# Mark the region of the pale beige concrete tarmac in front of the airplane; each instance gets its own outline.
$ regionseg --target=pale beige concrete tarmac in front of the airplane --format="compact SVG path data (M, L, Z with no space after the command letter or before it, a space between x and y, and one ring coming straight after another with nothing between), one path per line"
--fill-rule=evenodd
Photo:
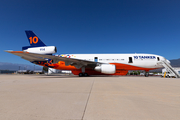
M0 120L179 120L180 79L0 75Z

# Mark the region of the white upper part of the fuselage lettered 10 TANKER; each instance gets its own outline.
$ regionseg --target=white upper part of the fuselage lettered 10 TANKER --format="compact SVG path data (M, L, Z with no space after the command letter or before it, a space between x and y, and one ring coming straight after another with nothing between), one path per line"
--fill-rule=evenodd
M141 68L162 68L164 57L154 54L63 54L60 57L75 58L100 63L121 63ZM169 62L169 61L168 61Z

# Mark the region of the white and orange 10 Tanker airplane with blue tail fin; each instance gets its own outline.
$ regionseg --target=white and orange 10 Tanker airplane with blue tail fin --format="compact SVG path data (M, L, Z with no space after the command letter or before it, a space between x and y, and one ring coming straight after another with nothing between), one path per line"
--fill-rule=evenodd
M127 75L129 70L149 70L163 68L161 61L169 60L155 54L59 54L55 46L46 46L33 31L25 31L31 46L22 51L6 51L20 56L31 63L59 70L71 70L74 75Z

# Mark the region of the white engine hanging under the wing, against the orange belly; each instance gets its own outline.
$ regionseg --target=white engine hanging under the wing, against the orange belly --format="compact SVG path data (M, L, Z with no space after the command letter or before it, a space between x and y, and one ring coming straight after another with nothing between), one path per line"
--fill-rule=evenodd
M104 74L114 74L116 72L116 66L111 64L102 64L101 66L96 66L94 70Z

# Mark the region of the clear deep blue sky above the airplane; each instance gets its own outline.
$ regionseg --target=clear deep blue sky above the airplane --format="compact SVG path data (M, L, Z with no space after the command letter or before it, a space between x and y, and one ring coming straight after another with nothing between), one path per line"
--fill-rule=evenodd
M29 64L4 50L28 46L33 30L59 54L152 53L180 58L180 0L0 1L0 62Z

